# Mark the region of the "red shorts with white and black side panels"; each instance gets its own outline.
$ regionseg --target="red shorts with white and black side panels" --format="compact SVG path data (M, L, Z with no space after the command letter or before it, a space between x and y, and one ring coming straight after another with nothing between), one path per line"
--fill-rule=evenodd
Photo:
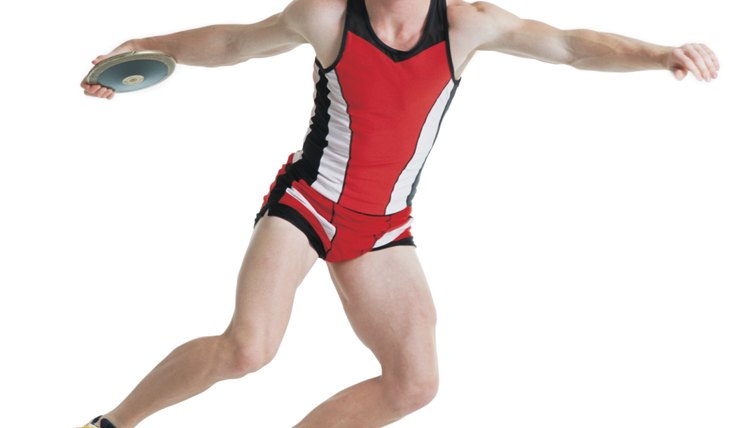
M320 258L328 262L397 245L414 245L411 207L391 215L352 211L296 178L294 170L292 154L263 198L256 223L266 214L287 220L307 236Z

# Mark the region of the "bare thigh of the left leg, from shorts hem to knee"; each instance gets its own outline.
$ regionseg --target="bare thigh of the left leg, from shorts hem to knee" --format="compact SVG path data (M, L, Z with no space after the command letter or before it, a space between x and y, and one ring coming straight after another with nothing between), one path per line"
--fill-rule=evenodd
M280 341L297 287L316 259L299 229L278 217L263 217L255 226L237 279L233 333Z

